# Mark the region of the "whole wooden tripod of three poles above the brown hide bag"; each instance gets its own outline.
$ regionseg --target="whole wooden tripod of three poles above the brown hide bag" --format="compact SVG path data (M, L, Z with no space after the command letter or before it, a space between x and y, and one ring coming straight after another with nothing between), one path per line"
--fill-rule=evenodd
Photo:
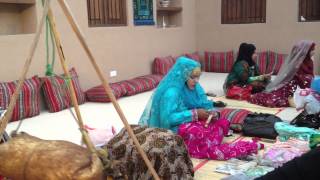
M78 40L80 41L81 46L83 47L83 49L85 50L87 56L89 57L89 60L90 60L90 62L92 64L92 66L94 67L94 69L95 69L100 81L102 82L102 85L103 85L107 95L109 96L113 106L115 107L118 115L120 116L120 119L122 120L122 122L124 124L124 127L128 131L129 136L132 138L133 143L135 144L139 154L142 156L143 160L145 161L145 163L146 163L149 171L151 172L152 176L156 180L159 180L160 178L159 178L158 174L154 170L154 168L153 168L151 162L149 161L147 155L145 154L145 152L141 148L141 145L139 144L139 141L137 140L136 136L134 135L133 130L131 129L126 117L124 116L123 111L121 110L121 108L120 108L115 96L113 95L112 90L111 90L111 88L109 86L109 83L108 83L107 79L104 77L104 75L101 72L99 66L97 65L97 63L95 61L95 58L93 57L93 54L91 53L91 51L89 49L89 46L87 45L87 43L86 43L86 41L84 39L84 36L83 36L82 32L80 31L79 26L77 25L77 23L75 22L74 17L71 14L71 11L70 11L70 8L69 8L68 4L66 3L65 0L58 0L58 3L60 4L60 6L61 6L61 8L63 10L63 13L65 14L69 24L71 25L72 30L74 31L74 33L76 34ZM4 117L1 120L0 135L3 134L3 132L6 129L7 124L9 123L9 120L11 119L11 116L12 116L12 113L13 113L13 108L14 108L14 106L16 104L18 95L19 95L19 93L21 91L22 85L23 85L24 80L26 78L26 74L27 74L27 72L29 70L29 67L31 65L34 52L35 52L37 44L39 42L41 30L42 30L42 27L43 27L44 22L46 20L46 16L48 16L49 23L50 23L51 29L53 31L55 44L56 44L56 48L58 50L58 54L59 54L59 58L60 58L60 63L61 63L62 69L63 69L65 75L67 76L67 79L70 79L70 74L68 72L68 66L66 64L66 58L65 58L64 53L63 53L63 48L62 48L62 45L61 45L60 36L59 36L58 31L57 31L57 28L56 28L56 25L55 25L54 16L53 16L52 10L50 9L50 5L49 4L50 4L50 0L46 0L45 4L44 4L44 9L43 9L43 14L42 14L42 17L41 17L41 21L40 21L39 26L37 28L37 32L36 32L35 38L33 40L33 43L31 45L31 49L30 49L29 55L27 57L27 60L25 62L21 77L19 79L19 82L18 82L18 85L16 87L15 92L13 93L12 97L10 98L10 104L8 106L7 112L5 113ZM88 136L87 131L85 131L85 129L84 129L84 124L83 124L83 120L82 120L82 116L81 116L81 113L80 113L80 109L79 109L79 105L78 105L78 102L77 102L77 98L76 98L76 94L75 94L75 90L74 90L73 84L72 83L68 83L68 85L69 85L70 94L71 94L71 101L72 101L72 104L73 104L73 106L75 108L75 112L76 112L76 116L77 116L77 123L79 125L80 132L82 134L82 138L84 140L84 143L86 144L86 146L88 147L88 149L89 149L89 151L91 153L94 153L94 154L98 155L96 150L95 150L95 148L94 148L93 143L91 142L91 140L90 140L90 138Z

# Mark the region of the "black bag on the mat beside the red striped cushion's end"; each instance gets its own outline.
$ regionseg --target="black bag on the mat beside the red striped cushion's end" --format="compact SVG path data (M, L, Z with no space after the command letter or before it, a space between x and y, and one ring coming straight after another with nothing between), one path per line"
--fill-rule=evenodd
M274 124L281 121L273 114L248 114L244 120L242 132L245 136L276 139L278 133L274 129Z

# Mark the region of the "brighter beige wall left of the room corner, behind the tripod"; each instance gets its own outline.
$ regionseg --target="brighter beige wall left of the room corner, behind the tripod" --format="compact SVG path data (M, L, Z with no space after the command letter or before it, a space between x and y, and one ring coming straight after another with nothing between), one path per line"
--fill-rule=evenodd
M67 24L60 7L56 1L52 2L65 54L70 62L69 66L76 67L84 89L99 84L86 54ZM151 63L155 56L179 55L196 50L195 0L186 0L182 3L183 26L168 29L159 29L156 26L134 26L132 0L127 0L128 26L89 28L86 1L68 0L67 2L103 72L109 75L110 70L117 70L118 76L111 78L110 81L151 73ZM37 5L37 15L39 20L40 4ZM0 23L0 27L1 25L2 23ZM34 34L0 36L2 62L0 81L18 79L33 37ZM28 76L44 74L44 47L42 34ZM56 61L58 62L58 59ZM61 72L60 66L56 66L55 69L57 73Z

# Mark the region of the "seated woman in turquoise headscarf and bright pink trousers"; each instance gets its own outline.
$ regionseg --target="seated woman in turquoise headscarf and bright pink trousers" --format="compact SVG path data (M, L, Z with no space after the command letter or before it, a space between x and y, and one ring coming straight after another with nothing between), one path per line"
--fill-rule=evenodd
M196 158L225 160L257 152L260 144L256 142L221 144L228 133L228 120L206 125L210 114L216 113L198 83L200 75L198 62L179 58L152 95L139 124L178 132L190 155Z

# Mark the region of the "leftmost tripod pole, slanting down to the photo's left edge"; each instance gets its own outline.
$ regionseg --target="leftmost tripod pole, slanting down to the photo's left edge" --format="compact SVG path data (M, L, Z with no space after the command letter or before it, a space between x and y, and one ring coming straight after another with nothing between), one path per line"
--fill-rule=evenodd
M44 25L44 22L46 20L46 16L48 14L49 6L50 6L50 0L46 0L46 2L44 4L43 11L42 11L42 17L41 17L40 23L38 24L35 37L34 37L34 39L32 41L32 44L31 44L31 47L30 47L30 51L29 51L29 55L28 55L28 57L27 57L27 59L25 61L22 73L20 75L20 79L19 79L18 85L16 86L16 89L15 89L13 95L10 98L10 103L9 103L8 108L7 108L7 112L4 114L3 118L1 119L1 124L0 124L0 135L1 136L3 135L3 132L5 131L8 123L11 120L12 113L13 113L13 108L16 105L19 93L20 93L21 88L23 86L24 80L26 79L26 75L27 75L27 73L29 71L34 52L35 52L35 50L37 48L37 45L38 45L38 42L39 42L40 34L41 34L41 31L42 31L42 27Z

